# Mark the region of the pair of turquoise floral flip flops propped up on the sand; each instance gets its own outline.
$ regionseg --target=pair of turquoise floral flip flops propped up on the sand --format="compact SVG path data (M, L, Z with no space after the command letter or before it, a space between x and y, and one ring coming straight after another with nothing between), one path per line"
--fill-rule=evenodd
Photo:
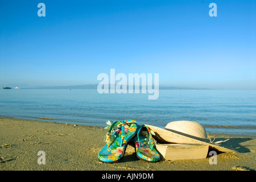
M135 146L137 157L147 162L158 162L160 155L154 148L153 138L150 129L139 126L136 121L126 119L123 121L110 122L106 127L106 144L99 151L98 159L103 163L115 163L122 160L125 155L127 143L132 140Z

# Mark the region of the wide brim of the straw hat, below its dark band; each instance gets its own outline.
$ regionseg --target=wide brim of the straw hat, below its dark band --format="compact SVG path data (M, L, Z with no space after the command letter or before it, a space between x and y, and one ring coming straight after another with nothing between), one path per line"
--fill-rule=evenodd
M219 152L236 152L229 148L221 147L213 143L203 142L198 139L194 139L191 137L186 137L185 135L174 133L173 131L161 129L156 126L146 125L153 130L155 135L153 137L161 143L190 143L190 144L205 144L211 148L211 150L219 151Z

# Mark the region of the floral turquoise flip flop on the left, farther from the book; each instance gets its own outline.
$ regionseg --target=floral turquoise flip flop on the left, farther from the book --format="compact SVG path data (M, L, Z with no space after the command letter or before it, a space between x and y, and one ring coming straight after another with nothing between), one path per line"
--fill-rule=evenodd
M115 163L123 158L127 143L134 137L138 127L137 122L130 119L115 121L109 124L111 126L106 135L107 144L98 154L98 159L103 163Z

